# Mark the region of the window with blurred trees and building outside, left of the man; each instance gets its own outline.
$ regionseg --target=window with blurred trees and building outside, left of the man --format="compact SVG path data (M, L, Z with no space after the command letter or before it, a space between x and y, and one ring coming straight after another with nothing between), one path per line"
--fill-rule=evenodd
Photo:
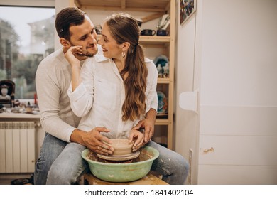
M0 6L0 80L15 83L15 99L33 99L36 68L53 53L55 9Z

